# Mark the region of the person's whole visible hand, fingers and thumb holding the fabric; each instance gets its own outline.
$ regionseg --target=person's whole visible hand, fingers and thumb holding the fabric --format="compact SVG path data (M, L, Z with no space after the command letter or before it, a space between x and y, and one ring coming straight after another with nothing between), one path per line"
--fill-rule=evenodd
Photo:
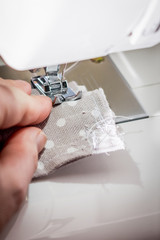
M46 136L29 125L42 122L51 111L51 99L30 96L30 84L0 78L0 129L23 126L0 152L0 230L21 207L37 168Z

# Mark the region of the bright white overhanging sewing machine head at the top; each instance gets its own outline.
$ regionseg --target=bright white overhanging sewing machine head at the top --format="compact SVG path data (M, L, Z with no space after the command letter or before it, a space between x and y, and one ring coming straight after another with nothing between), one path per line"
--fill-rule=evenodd
M33 69L153 46L158 0L1 0L0 54Z

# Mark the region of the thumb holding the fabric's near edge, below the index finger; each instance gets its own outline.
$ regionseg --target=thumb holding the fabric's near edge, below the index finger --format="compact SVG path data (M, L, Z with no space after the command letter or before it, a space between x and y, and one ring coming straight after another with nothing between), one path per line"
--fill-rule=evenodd
M35 127L16 132L0 153L0 225L4 225L25 199L46 136Z

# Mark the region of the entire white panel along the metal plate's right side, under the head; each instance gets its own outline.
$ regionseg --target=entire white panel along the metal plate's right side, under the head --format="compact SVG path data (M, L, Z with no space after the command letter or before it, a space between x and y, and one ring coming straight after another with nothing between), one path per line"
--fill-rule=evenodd
M110 55L149 116L160 115L160 44Z

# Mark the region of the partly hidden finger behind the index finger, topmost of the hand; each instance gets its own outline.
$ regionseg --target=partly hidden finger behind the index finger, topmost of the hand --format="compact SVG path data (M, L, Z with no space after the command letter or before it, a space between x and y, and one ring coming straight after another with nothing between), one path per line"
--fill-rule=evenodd
M26 81L10 80L10 79L4 80L4 79L0 78L0 84L17 87L17 88L21 89L22 91L24 91L25 93L27 93L28 95L31 94L31 85Z

